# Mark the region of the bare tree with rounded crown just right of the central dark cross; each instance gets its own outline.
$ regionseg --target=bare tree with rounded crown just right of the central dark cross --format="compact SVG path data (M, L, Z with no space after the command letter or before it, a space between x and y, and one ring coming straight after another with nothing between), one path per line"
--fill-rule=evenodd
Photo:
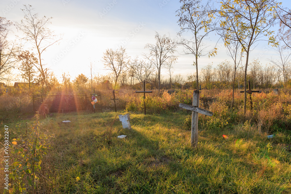
M158 89L160 92L160 79L161 79L161 68L162 65L167 65L171 60L174 60L174 52L176 51L176 46L173 44L171 38L163 35L162 37L156 32L155 35L156 44L146 44L145 48L150 50L150 54L145 55L155 66L158 72Z

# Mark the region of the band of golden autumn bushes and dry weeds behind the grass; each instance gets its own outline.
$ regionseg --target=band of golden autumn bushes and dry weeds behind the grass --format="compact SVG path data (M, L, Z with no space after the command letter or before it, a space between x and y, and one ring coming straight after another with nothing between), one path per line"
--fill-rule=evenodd
M88 91L87 91L88 92ZM114 111L114 102L112 90L102 90L102 106L104 111ZM128 112L143 113L144 102L146 103L146 111L152 113L167 113L168 111L181 111L183 114L189 114L186 110L179 108L180 103L192 104L193 90L176 90L161 91L157 90L152 93L147 93L145 100L142 93L135 93L135 90L130 88L118 89L115 91L116 106L118 110L126 110ZM90 94L87 93L87 96ZM87 98L88 101L91 98ZM244 116L244 94L239 90L235 90L234 102L232 104L232 90L201 90L200 91L200 108L212 111L213 117L200 115L200 127L207 127L221 130L225 127L233 128L237 124L243 124L246 120L251 121L258 129L267 133L274 131L284 131L291 129L291 95L274 94L274 92L262 92L252 94L253 110L250 110L249 94L247 94L247 113ZM91 104L87 103L88 111L92 110ZM32 110L31 95L0 96L0 110L24 111L31 113ZM190 118L185 120L186 123L191 122Z

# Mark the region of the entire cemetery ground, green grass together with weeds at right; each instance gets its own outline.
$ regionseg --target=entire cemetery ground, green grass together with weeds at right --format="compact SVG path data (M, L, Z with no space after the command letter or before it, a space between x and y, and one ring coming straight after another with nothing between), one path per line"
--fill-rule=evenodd
M35 192L291 193L290 95L255 94L254 111L248 110L246 118L241 97L231 107L228 92L219 96L211 104L203 104L200 98L200 107L214 115L199 115L195 149L190 145L191 111L163 109L150 101L147 115L143 101L140 107L129 101L126 110L117 113L53 113L40 118L39 145L47 149L35 170ZM190 104L191 98L187 100L178 101ZM131 130L123 129L118 119L126 113ZM15 145L10 143L11 152L16 150L11 158L19 162L20 152L25 152L23 140L34 135L36 126L35 118L21 118L15 114L4 120L10 126L11 141L16 139ZM274 138L266 137L270 134ZM26 166L14 164L18 176ZM29 174L23 176L26 191L32 193Z

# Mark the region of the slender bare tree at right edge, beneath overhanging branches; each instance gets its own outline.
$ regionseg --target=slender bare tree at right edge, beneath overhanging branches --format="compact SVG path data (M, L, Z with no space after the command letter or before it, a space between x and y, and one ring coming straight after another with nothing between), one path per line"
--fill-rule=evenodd
M286 52L286 49L282 49L282 47L279 45L276 48L276 52L279 56L279 59L269 59L269 61L275 65L276 67L279 68L281 71L281 74L283 74L283 79L284 79L284 88L285 88L285 94L286 94L286 84L287 84L287 79L288 79L288 69L290 66L290 55L291 53Z

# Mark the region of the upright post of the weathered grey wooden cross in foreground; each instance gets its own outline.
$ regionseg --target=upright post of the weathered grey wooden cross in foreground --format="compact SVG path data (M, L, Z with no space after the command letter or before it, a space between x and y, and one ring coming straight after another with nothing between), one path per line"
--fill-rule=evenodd
M199 90L193 91L192 105L199 107ZM198 114L196 111L192 111L191 119L191 146L196 147L198 143Z

